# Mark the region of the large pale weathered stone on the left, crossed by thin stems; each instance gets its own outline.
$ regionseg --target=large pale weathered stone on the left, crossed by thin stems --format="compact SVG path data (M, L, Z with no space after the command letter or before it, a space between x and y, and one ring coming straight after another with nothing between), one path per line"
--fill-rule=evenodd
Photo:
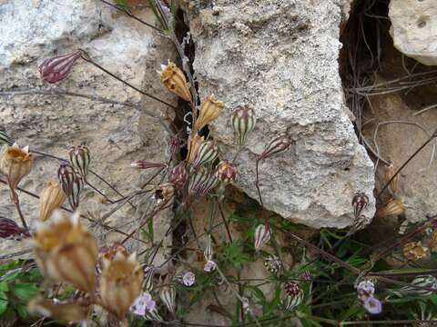
M155 17L148 10L136 14L147 22L154 22ZM94 0L3 1L0 20L2 90L56 89L56 85L45 84L39 79L38 65L46 57L66 54L80 47L129 83L176 104L175 97L158 83L156 73L160 63L174 58L173 45L107 5ZM72 74L58 87L141 105L140 109L135 109L66 96L0 97L0 126L5 127L19 144L30 144L31 150L64 158L71 145L86 143L91 152L91 169L123 194L134 191L145 180L140 178L145 173L130 167L132 161L165 160L164 130L142 108L159 114L167 111L166 106L138 94L84 61L79 61ZM39 193L49 178L56 178L58 164L56 160L36 155L32 172L20 186ZM89 181L111 199L120 197L95 176L91 175ZM23 193L20 198L26 219L36 218L36 200ZM114 208L101 200L99 194L87 187L81 197L82 211L103 215ZM133 203L139 205L138 211L127 205L106 223L123 225L130 231L144 213L145 206L141 203L147 203L146 200L134 199ZM7 189L1 184L0 214L17 219ZM168 220L160 220L162 228L166 223ZM111 239L120 239L120 235L112 236Z

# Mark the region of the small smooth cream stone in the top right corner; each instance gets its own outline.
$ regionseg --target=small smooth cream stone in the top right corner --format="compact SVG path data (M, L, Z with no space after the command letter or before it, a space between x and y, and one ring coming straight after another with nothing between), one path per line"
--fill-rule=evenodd
M391 0L389 17L393 44L409 57L437 64L437 5L433 0Z

